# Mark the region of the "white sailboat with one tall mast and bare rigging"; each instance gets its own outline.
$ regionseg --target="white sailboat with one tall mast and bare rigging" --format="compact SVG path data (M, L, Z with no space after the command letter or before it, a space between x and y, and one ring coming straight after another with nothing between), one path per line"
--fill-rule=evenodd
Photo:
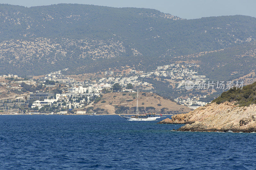
M161 118L160 116L156 115L155 113L149 113L149 114L139 114L138 113L138 96L139 96L139 89L137 91L137 110L136 115L127 117L127 116L121 116L125 118L127 121L155 121L157 118Z

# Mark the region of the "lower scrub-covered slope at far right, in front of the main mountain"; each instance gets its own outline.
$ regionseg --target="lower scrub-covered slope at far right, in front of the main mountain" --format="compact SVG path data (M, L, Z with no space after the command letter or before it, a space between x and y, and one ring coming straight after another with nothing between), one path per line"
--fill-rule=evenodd
M201 66L200 73L206 74L212 80L234 80L255 70L256 43L248 41L220 50L177 56L163 62L193 61Z

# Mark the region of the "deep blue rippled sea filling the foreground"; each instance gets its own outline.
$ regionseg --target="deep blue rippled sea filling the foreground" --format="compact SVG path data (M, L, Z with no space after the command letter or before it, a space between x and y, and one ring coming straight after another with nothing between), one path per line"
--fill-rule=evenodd
M157 122L0 115L0 169L256 169L256 133L182 132Z

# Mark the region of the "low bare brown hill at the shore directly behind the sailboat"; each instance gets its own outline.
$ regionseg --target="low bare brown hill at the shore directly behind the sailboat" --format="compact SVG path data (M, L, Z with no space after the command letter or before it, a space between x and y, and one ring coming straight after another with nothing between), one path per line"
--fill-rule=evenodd
M125 95L124 95L125 94ZM143 94L143 95L142 95ZM134 114L136 113L137 93L106 93L98 103L87 107L88 112L99 114ZM139 93L139 113L178 114L192 109L164 99L155 93Z

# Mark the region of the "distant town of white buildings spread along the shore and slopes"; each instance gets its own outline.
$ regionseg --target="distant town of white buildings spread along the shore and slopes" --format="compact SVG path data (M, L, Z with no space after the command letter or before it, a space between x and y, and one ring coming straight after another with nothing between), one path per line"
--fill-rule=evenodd
M208 80L204 75L198 75L196 64L170 64L158 66L151 72L129 70L127 76L116 75L114 71L105 71L105 77L96 81L77 81L62 74L67 69L51 72L38 78L20 78L17 75L0 75L1 90L4 88L12 97L0 99L0 112L2 113L49 113L49 114L74 114L73 109L86 108L92 102L96 103L104 93L112 91L135 92L134 87L150 89L150 83L141 78L168 77L179 80L178 89L184 89L187 79L195 84ZM191 69L194 68L194 69ZM132 75L132 76L131 76ZM3 88L4 87L4 88ZM206 102L200 99L206 96L174 99L180 105L192 109L204 106ZM86 114L88 109L76 111L76 114Z

